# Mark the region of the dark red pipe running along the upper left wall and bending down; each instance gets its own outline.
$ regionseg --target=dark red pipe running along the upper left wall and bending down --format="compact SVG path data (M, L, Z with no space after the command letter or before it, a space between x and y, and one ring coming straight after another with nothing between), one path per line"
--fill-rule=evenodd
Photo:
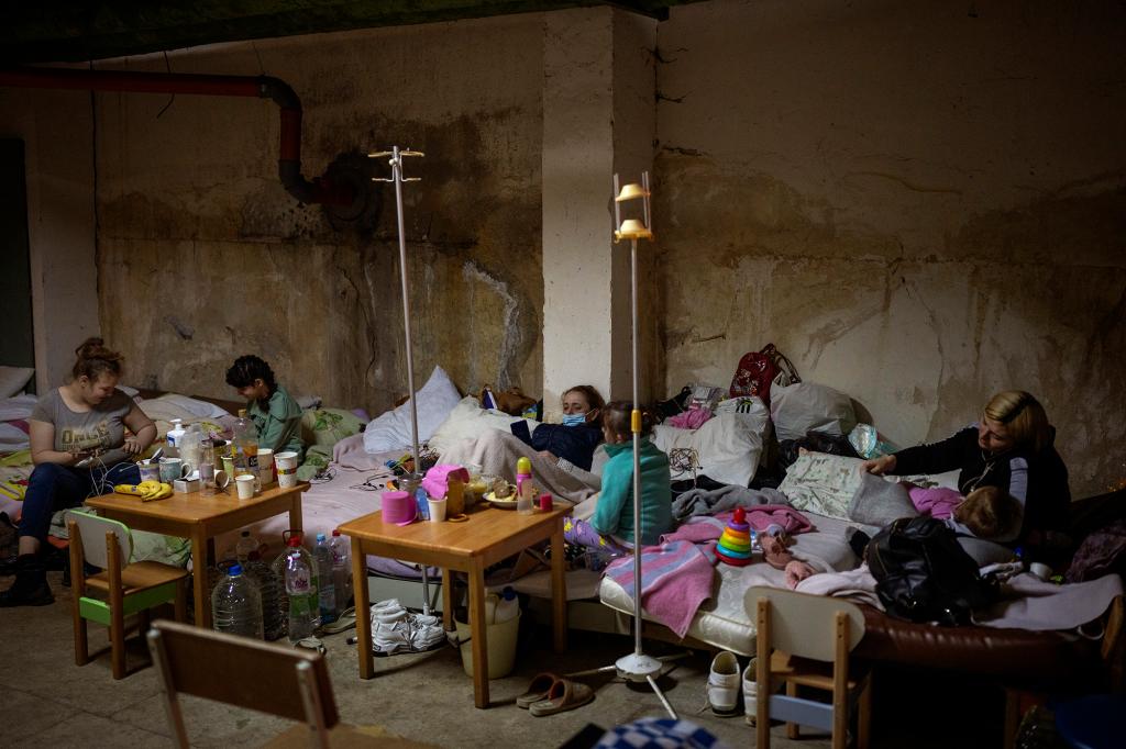
M301 99L285 81L269 75L200 75L17 67L0 70L0 85L135 93L187 93L270 99L282 110L278 175L286 190L304 204L347 206L355 199L350 186L328 179L306 180L301 174Z

